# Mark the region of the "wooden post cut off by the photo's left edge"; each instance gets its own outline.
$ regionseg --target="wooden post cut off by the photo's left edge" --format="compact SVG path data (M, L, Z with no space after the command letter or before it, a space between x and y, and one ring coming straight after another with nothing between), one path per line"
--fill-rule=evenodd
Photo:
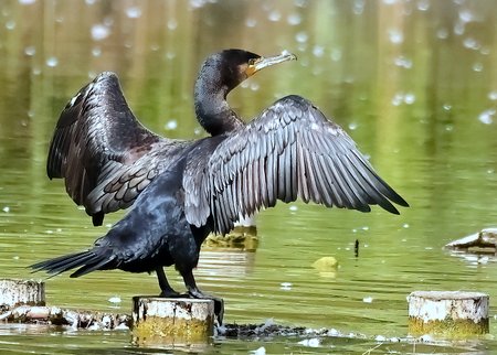
M45 283L35 280L0 280L0 305L45 305Z

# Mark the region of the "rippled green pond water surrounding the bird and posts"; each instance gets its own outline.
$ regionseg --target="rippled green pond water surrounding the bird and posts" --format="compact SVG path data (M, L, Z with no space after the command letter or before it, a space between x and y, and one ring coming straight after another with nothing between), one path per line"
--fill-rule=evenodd
M84 249L108 228L92 227L63 182L45 175L59 114L95 74L118 73L129 105L154 131L194 138L203 132L191 92L208 54L288 50L297 62L257 74L230 95L231 105L250 118L284 95L307 97L347 129L411 208L394 216L279 204L258 217L256 251L203 250L198 282L225 299L228 322L274 319L367 336L325 338L317 348L298 338L215 340L204 351L361 354L377 335L405 336L405 297L415 290L487 292L494 320L495 259L443 249L497 225L493 0L31 2L0 3L0 277L31 278L28 265ZM322 256L337 258L335 273L311 267ZM169 275L181 289L176 271ZM50 304L126 313L133 295L158 291L154 275L123 271L63 275L46 288ZM123 300L117 310L114 295ZM463 347L387 344L374 352L491 354L496 334L490 321L485 340ZM134 347L127 332L0 324L0 353L88 352L155 351Z

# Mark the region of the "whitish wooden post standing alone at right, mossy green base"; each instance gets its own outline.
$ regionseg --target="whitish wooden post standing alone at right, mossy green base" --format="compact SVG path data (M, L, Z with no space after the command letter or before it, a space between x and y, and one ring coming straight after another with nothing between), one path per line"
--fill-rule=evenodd
M461 337L488 333L488 294L415 291L408 297L409 333Z

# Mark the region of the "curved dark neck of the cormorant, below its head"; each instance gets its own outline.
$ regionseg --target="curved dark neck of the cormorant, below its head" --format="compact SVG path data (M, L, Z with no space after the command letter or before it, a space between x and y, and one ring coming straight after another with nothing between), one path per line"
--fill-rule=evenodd
M244 126L226 101L229 92L226 86L215 85L215 83L205 85L203 79L195 83L197 119L211 136L231 132Z

